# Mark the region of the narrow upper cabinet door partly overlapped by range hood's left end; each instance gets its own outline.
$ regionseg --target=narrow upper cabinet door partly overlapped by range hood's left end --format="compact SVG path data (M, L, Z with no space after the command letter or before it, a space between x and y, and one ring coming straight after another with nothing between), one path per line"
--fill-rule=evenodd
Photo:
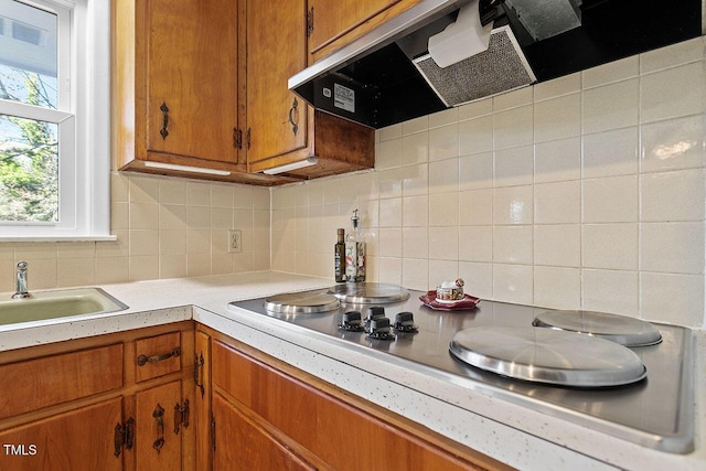
M287 88L306 65L306 0L247 0L248 163L307 147L308 107Z

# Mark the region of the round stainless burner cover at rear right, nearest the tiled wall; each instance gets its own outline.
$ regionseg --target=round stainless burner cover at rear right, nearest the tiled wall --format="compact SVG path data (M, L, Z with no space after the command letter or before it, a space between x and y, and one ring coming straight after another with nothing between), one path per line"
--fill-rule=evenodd
M596 311L547 311L532 325L585 333L625 346L645 346L662 342L662 334L649 322L627 315Z

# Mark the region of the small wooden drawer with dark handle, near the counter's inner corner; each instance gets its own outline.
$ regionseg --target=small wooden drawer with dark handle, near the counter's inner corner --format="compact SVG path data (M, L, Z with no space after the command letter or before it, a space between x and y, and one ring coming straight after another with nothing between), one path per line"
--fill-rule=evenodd
M181 370L181 333L169 332L135 341L137 383Z

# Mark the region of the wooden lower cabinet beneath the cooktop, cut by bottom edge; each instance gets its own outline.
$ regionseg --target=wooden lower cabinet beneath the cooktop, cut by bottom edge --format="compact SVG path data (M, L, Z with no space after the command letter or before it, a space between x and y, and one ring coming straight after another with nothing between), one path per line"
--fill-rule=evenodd
M248 345L200 329L212 335L215 470L226 469L218 463L250 470L509 469Z

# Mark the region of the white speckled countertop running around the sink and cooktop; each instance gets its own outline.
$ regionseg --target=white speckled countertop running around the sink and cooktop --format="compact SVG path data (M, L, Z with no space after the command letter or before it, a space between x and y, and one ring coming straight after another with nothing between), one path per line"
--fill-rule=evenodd
M234 300L330 285L328 279L261 271L101 286L129 308L117 313L0 325L0 351L193 318L518 469L706 469L703 331L695 335L696 451L672 454L510 404L482 387L470 389L392 355L351 354L339 343L312 342L276 319L227 310Z

